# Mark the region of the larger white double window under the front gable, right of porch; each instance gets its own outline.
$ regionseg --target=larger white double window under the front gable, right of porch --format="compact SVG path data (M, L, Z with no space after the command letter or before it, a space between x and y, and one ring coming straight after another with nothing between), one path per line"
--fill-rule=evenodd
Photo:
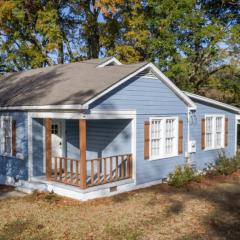
M151 159L177 155L178 120L171 118L150 119L150 156Z

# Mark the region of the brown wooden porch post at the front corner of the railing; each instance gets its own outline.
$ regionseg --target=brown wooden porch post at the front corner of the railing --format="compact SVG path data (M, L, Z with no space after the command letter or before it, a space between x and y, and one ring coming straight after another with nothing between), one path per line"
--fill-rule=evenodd
M79 143L80 143L80 188L87 187L87 160L86 160L86 120L79 120Z

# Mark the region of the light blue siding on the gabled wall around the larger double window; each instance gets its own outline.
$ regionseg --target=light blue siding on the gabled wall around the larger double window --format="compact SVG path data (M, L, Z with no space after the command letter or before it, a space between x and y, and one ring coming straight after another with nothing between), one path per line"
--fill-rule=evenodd
M185 163L184 154L159 160L144 160L144 121L154 116L178 116L183 120L184 151L187 148L187 106L160 80L139 77L93 103L93 109L136 110L136 183L146 183L168 176L177 165ZM124 148L124 145L119 145Z

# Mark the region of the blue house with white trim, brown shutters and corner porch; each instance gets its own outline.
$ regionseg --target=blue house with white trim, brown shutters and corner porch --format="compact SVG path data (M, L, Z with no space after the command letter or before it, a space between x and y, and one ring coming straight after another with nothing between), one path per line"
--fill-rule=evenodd
M240 109L186 93L152 63L86 60L0 80L0 183L76 199L234 156Z

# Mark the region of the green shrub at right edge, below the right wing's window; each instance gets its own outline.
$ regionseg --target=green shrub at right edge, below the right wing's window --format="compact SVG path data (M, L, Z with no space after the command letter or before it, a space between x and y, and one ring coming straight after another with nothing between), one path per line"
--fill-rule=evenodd
M230 175L240 169L240 156L228 158L222 153L219 155L216 164L209 166L209 169L209 173L213 175Z

